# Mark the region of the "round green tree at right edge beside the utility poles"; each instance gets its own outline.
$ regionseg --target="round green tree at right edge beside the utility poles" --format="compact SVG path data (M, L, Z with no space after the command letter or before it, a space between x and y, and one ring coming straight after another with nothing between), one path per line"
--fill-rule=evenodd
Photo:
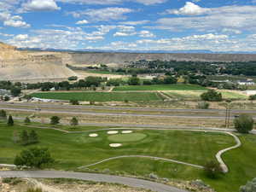
M234 120L236 131L240 133L248 133L253 130L254 120L248 114L241 114Z

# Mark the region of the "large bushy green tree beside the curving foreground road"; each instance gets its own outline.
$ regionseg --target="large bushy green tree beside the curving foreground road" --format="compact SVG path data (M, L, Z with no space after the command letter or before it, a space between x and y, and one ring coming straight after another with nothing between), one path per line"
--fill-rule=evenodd
M54 163L48 148L29 148L21 151L15 157L16 166L30 166L42 168Z

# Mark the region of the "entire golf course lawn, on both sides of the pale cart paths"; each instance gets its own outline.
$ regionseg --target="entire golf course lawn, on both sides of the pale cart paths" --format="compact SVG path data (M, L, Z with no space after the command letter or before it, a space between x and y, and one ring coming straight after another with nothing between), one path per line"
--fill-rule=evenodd
M13 163L16 154L22 147L12 142L14 131L32 130L26 126L15 125L7 127L0 125L0 163ZM195 131L134 131L131 137L139 141L125 141L129 134L113 135L117 137L120 148L110 148L113 139L107 131L97 131L99 137L89 137L90 133L62 133L55 130L35 129L40 143L33 146L48 147L55 158L55 169L76 170L109 157L144 154L182 160L197 165L204 165L207 160L215 160L214 155L219 149L234 145L232 137L221 133ZM134 135L135 134L135 135ZM142 137L142 135L143 137ZM124 137L123 137L124 136ZM144 137L146 136L146 137ZM128 174L145 176L154 172L160 177L173 179L195 180L201 178L218 192L238 192L240 185L256 176L256 137L241 136L242 147L224 154L224 160L230 167L230 172L218 178L207 179L203 172L191 166L177 165L161 160L143 158L127 158L111 160L90 169L109 169L111 172L126 172ZM131 163L132 162L132 163Z

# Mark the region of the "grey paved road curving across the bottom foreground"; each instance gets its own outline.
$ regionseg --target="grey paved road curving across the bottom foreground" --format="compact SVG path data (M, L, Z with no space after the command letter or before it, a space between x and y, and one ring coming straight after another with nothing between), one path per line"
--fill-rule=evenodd
M25 178L74 178L86 181L119 183L130 187L150 189L155 192L188 192L172 186L155 183L143 179L131 177L110 176L97 173L85 172L58 172L58 171L7 171L0 172L0 177L25 177Z

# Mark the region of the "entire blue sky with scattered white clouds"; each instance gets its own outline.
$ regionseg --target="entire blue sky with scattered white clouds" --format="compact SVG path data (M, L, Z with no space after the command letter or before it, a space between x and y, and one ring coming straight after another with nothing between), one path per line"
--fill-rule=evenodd
M256 51L256 0L0 0L18 47Z

